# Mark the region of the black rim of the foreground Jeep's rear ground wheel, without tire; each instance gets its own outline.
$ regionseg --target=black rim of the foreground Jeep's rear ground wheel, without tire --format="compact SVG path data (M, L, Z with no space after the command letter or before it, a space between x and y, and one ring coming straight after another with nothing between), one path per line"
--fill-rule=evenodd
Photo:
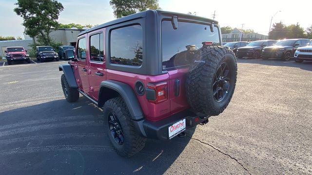
M111 134L118 145L122 145L124 142L124 134L122 132L121 125L113 112L108 114L108 127Z

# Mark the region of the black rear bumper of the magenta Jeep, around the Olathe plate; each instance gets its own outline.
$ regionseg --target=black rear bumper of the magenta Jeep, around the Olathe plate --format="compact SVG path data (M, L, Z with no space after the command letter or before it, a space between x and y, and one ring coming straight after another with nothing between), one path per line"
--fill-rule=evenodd
M190 110L184 110L166 119L152 122L148 120L133 121L137 131L144 137L157 139L157 140L168 140L169 130L168 128L180 121L186 120L186 129L195 127L197 124L208 120L208 116L204 116L200 113L195 114Z

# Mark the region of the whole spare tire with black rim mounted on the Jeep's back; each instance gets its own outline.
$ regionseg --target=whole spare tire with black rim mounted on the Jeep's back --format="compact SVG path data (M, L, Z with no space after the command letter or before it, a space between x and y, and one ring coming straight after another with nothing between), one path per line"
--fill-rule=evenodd
M189 105L196 112L216 116L229 105L234 93L237 60L227 47L203 47L195 53L186 79Z

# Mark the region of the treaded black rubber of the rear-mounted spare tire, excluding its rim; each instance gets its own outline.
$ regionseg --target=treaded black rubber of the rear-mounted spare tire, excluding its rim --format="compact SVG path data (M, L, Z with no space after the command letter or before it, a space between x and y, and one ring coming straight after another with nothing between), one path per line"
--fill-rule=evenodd
M233 88L223 103L215 101L212 95L212 84L219 66L229 59L233 64ZM186 78L186 93L189 105L196 112L216 116L229 105L234 93L237 76L237 60L233 51L227 47L211 46L202 48L195 54L195 61Z

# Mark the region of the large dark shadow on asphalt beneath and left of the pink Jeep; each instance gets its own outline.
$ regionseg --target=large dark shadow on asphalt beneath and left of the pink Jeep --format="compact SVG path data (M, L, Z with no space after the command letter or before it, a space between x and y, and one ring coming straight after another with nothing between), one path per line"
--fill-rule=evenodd
M101 114L84 97L0 112L1 174L163 174L190 141L147 140L137 155L119 157Z

